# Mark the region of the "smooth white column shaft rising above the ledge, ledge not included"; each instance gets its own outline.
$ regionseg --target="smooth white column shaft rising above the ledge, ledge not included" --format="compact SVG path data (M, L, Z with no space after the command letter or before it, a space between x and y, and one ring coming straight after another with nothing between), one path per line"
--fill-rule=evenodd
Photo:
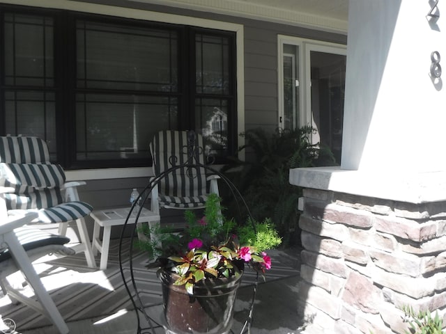
M433 2L350 1L341 168L446 170L446 1L438 19Z

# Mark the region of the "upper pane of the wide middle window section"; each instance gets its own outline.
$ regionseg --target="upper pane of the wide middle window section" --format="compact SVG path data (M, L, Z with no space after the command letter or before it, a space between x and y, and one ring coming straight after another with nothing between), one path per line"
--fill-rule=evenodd
M77 88L178 90L176 31L77 22Z

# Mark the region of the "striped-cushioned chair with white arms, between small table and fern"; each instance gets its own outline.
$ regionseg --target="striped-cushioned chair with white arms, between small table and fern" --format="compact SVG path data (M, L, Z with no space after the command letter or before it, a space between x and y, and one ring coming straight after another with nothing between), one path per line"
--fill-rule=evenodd
M193 148L187 131L165 130L155 134L150 145L155 177L174 166L186 164L193 156L191 164L206 162L203 137L192 134ZM191 150L192 149L192 150ZM193 151L193 152L192 152ZM206 168L185 166L174 169L160 178L151 192L151 209L160 214L160 207L167 209L199 209L206 205L209 193L219 195L218 175L206 175Z

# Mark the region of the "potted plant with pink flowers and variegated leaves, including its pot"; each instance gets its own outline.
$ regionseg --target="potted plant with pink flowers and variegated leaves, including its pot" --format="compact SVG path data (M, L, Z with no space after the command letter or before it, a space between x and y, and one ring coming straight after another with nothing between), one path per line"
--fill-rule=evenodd
M159 268L168 333L229 333L243 272L249 267L263 276L272 265L266 250L282 240L268 219L243 226L226 219L215 194L202 218L187 210L185 219L178 233L146 230L151 240L137 241L156 257L147 267Z

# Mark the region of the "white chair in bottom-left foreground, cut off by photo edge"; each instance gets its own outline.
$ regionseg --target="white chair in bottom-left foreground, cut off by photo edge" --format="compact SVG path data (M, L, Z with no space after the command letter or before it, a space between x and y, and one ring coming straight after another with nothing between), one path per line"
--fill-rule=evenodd
M1 193L4 193L4 188L0 188L0 190ZM32 262L49 253L72 255L75 251L63 246L70 241L67 237L23 227L24 224L29 223L37 216L37 213L27 213L22 216L14 216L8 220L1 220L0 285L3 293L8 294L11 300L21 301L42 313L52 321L60 333L65 334L69 331L68 326L43 286ZM7 277L15 271L22 272L38 301L24 296L18 289L9 284Z

